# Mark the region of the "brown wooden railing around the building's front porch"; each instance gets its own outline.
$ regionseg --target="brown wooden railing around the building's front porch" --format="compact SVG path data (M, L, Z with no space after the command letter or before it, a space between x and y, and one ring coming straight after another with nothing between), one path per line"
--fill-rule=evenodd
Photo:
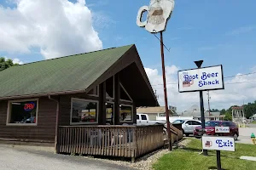
M57 152L136 158L163 145L163 125L61 126Z

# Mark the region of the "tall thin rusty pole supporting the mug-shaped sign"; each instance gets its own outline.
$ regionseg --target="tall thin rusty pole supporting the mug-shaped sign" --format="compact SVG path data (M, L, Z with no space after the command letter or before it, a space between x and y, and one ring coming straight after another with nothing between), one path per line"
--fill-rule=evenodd
M163 74L163 82L164 82L164 93L165 93L165 105L166 105L166 122L167 122L167 134L168 134L168 149L172 150L172 139L171 139L171 131L170 131L170 121L169 121L169 110L168 110L168 102L167 102L167 92L166 92L166 67L165 67L165 54L164 54L164 42L163 42L163 32L160 31L160 49L161 49L161 59L162 59L162 74Z

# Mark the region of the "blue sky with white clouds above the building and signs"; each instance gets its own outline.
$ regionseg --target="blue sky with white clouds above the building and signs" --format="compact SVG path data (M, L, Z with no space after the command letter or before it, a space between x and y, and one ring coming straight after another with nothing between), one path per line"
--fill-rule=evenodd
M149 0L0 0L0 56L29 63L136 44L164 105L160 42L136 24ZM185 111L199 93L179 94L177 71L223 65L225 89L210 91L212 109L256 100L256 1L176 0L164 43L168 105ZM159 37L159 34L155 36ZM253 74L247 74L253 73ZM247 75L244 75L247 74ZM207 94L204 93L205 108Z

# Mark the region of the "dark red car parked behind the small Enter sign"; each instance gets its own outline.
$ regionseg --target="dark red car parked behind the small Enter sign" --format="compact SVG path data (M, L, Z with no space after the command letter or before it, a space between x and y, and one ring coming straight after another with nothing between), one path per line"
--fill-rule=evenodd
M215 133L215 127L230 127L230 133ZM201 126L195 127L194 136L195 138L201 138ZM209 121L206 122L206 133L207 135L219 135L219 136L234 136L234 139L237 140L239 136L238 127L234 122L230 121Z

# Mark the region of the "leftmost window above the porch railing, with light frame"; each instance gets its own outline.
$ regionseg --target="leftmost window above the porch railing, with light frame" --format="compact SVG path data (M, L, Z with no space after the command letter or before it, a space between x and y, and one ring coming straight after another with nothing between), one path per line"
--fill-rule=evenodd
M86 99L72 99L71 123L84 124L98 122L98 102Z

